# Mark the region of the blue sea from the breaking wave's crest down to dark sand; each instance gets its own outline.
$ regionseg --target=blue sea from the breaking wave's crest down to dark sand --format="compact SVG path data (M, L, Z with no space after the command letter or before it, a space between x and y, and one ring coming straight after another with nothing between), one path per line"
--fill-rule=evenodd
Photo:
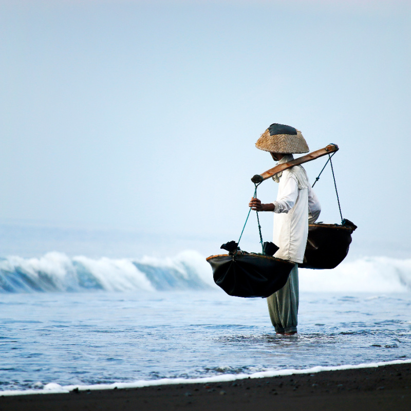
M298 334L282 337L265 300L226 295L205 257L1 259L2 394L411 359L411 259L300 270Z

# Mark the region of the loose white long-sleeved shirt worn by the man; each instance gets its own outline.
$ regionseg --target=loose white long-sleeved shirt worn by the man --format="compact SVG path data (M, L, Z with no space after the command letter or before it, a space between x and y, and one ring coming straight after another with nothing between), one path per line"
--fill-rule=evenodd
M291 161L286 155L278 164ZM273 242L279 247L274 257L302 263L307 244L308 223L320 215L320 202L311 189L307 173L296 165L277 175L278 194L274 204Z

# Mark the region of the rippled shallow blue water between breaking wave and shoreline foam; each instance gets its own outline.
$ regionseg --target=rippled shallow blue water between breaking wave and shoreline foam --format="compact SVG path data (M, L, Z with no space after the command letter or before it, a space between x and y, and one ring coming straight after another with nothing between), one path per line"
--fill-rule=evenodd
M2 294L0 389L195 378L411 357L411 294L302 293L281 337L222 291Z

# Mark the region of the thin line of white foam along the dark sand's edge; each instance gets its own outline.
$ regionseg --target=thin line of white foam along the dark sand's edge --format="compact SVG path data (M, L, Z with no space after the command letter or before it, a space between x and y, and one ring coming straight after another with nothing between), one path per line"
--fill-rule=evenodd
M290 376L295 374L312 374L321 371L338 371L345 369L359 369L359 368L377 368L384 365L395 365L395 364L410 364L411 360L395 360L387 362L373 362L357 365L338 365L338 366L315 366L306 369L281 369L281 370L268 370L259 371L252 374L222 374L213 377L203 377L203 378L162 378L159 380L141 380L130 383L115 382L112 384L93 384L93 385L65 385L61 386L57 383L48 383L43 389L27 389L27 390L5 390L1 391L2 396L12 396L12 395L27 395L27 394L62 394L69 393L73 389L78 389L79 391L86 390L101 390L101 389L120 389L120 388L141 388L141 387L151 387L158 385L171 385L171 384L204 384L211 382L225 382L225 381L235 381L244 380L246 378L267 378L276 376Z

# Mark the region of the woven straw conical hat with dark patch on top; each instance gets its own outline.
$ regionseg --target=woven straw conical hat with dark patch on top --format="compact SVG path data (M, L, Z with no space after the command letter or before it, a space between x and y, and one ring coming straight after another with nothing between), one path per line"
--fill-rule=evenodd
M308 153L309 148L300 130L284 124L271 124L255 143L260 150L272 153Z

